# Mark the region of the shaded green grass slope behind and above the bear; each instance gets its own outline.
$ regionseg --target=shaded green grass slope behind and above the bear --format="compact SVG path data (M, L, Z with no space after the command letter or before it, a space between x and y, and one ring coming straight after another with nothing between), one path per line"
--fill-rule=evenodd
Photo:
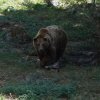
M16 8L12 5L12 8L3 9L2 13L9 21L23 23L26 31L32 36L41 27L54 24L62 26L67 32L69 40L74 41L88 39L95 30L89 11L82 8L76 14L71 14L68 9L47 7L45 4L30 4L20 4L21 9L18 5ZM0 19L2 20L2 17Z

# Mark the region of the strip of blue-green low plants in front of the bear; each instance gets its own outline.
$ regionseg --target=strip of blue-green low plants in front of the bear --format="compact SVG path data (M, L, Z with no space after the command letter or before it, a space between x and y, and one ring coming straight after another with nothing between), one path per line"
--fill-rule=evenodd
M70 97L75 93L75 88L74 84L61 85L52 80L37 80L33 84L8 85L0 88L0 92L19 95L19 98L24 98L23 100L33 100L32 98L40 100L39 98L48 96L55 98Z

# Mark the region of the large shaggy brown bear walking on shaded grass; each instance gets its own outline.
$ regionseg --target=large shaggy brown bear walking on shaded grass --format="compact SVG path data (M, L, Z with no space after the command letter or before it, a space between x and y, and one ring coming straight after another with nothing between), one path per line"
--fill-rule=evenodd
M67 44L67 36L63 29L56 25L41 28L33 45L37 51L42 67L59 67L58 62L62 57ZM55 64L51 67L51 65Z

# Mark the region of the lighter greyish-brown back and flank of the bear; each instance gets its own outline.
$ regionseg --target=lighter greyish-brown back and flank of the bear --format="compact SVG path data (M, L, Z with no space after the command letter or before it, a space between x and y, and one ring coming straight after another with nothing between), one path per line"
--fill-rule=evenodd
M61 27L56 25L48 26L46 27L46 29L48 30L49 34L53 38L52 42L56 48L56 53L57 53L56 59L58 60L62 56L66 48L66 44L67 44L66 33Z

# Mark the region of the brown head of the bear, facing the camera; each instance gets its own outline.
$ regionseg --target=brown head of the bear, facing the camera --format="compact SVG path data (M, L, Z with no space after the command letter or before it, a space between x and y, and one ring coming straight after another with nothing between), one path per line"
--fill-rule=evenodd
M33 44L37 52L44 55L51 46L51 37L48 34L48 30L45 28L40 29L36 37L33 39Z

